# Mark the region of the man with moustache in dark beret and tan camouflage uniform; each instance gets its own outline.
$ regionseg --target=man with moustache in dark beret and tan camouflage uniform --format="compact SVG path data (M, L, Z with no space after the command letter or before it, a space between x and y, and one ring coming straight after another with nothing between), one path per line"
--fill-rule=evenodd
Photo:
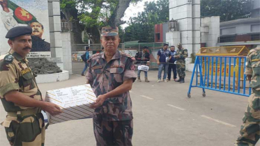
M52 115L59 106L43 102L36 79L28 67L26 54L31 50L31 27L17 26L6 34L11 49L0 56L0 98L7 112L1 123L10 145L44 145L45 124L42 109Z

